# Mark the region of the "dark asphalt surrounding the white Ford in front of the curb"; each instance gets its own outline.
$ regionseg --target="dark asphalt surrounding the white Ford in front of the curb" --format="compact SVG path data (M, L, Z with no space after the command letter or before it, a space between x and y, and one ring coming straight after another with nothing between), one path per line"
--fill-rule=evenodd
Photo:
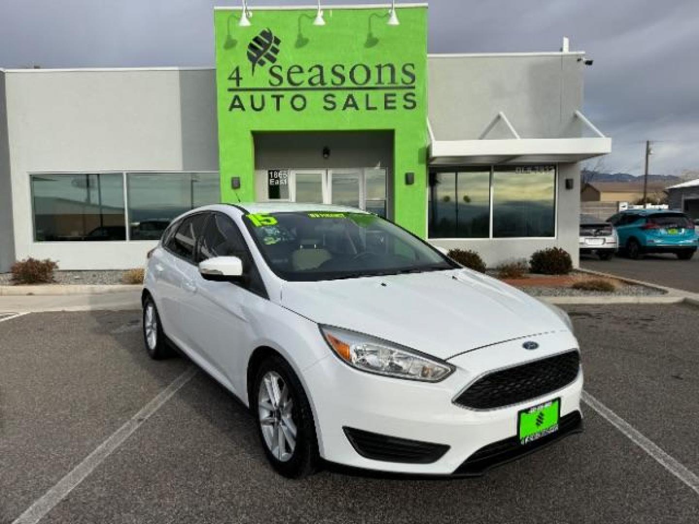
M691 484L699 309L568 310L586 392ZM221 386L184 358L147 358L139 312L0 319L0 356L1 523L31 521L16 519L38 500L50 502L42 523L691 523L699 514L699 485L588 405L582 435L477 479L324 471L289 481L268 467L252 418ZM131 432L57 496L57 483L124 425Z

